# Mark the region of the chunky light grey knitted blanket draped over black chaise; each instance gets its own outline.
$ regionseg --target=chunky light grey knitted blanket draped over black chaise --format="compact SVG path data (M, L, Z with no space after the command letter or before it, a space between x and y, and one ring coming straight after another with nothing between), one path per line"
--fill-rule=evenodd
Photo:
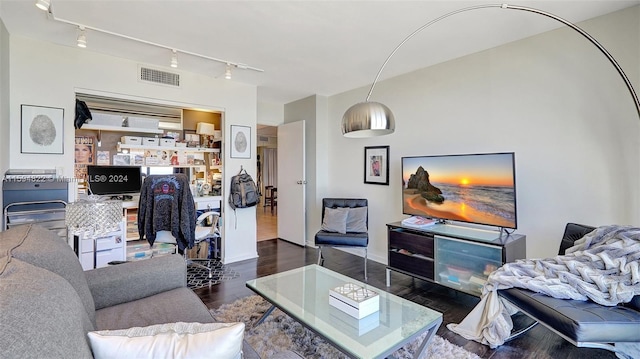
M493 272L480 303L449 330L495 348L509 337L516 312L499 289L525 288L561 299L613 306L640 294L640 228L604 226L577 240L563 256L524 259Z

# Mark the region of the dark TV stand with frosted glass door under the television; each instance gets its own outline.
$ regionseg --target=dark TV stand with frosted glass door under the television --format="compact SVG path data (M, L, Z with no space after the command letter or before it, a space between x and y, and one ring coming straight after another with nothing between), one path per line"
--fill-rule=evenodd
M387 286L391 271L480 296L488 275L526 257L526 236L449 224L412 228L387 224Z

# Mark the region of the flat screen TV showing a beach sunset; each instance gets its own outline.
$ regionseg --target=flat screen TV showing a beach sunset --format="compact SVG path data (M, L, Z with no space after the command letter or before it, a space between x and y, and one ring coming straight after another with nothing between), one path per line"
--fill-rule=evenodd
M517 228L515 154L402 157L402 212Z

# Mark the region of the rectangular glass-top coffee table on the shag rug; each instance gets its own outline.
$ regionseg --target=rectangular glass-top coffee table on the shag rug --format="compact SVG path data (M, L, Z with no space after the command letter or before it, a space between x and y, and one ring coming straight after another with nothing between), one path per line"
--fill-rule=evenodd
M329 289L346 283L376 291L380 310L358 320L330 305ZM272 304L256 325L279 308L352 358L385 358L426 332L419 358L442 324L442 313L315 264L246 285Z

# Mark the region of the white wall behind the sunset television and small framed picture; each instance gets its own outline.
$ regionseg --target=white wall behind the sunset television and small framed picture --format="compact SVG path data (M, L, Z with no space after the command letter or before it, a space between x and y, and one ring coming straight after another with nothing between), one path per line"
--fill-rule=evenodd
M640 6L579 25L640 89ZM437 51L423 45L425 58ZM570 221L640 225L638 113L608 60L569 28L382 81L371 100L392 109L395 133L344 138L342 115L367 91L329 98L331 186L318 196L369 199L376 261L387 261L385 224L406 218L402 156L515 151L517 232L527 235L529 258L556 254ZM390 146L389 186L363 184L364 147L374 145Z

